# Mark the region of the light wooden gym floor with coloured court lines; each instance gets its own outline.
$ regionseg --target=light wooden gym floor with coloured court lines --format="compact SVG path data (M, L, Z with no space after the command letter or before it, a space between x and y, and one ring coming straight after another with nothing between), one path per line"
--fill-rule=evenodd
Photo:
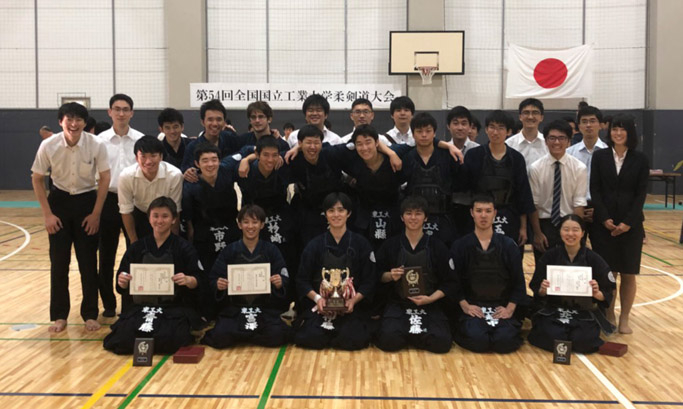
M47 331L47 233L31 192L0 192L0 407L8 408L671 408L683 406L681 210L646 210L648 242L621 358L574 355L570 366L525 344L510 355L416 350L314 352L206 349L197 365L155 356L153 367L102 349L87 333L71 265L72 314ZM25 201L25 202L22 202ZM13 202L13 203L9 203ZM651 197L650 207L662 207ZM33 206L33 207L32 207ZM123 246L119 249L122 253ZM527 280L533 256L525 257Z

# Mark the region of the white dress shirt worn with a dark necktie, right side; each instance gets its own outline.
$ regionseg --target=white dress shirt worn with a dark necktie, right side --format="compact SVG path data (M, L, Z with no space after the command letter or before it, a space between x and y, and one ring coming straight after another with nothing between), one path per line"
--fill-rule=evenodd
M553 188L555 183L555 162L557 159L547 154L531 164L529 184L534 196L538 217L549 219L553 208ZM588 185L586 165L567 153L560 159L562 172L562 193L560 216L574 213L574 208L586 205L586 185Z

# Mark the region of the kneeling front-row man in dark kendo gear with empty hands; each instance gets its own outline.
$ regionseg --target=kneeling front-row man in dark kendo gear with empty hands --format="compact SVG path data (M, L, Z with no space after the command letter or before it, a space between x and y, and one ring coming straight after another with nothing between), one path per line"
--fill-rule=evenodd
M451 247L462 309L453 338L475 352L512 352L522 344L521 323L513 316L526 297L522 259L511 238L494 233L491 197L475 197L471 214L474 232Z

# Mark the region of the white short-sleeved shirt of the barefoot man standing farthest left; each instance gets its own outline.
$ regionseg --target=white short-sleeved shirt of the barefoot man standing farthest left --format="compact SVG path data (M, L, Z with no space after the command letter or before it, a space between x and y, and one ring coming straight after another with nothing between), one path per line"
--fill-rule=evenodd
M109 170L107 149L95 135L82 132L78 142L69 146L64 132L40 143L31 172L47 175L54 185L72 195L97 189L97 176Z

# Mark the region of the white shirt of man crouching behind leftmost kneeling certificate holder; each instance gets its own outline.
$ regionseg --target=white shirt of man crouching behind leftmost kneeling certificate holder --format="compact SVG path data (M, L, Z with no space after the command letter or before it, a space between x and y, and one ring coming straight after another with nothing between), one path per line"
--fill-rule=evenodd
M121 214L133 213L135 207L147 213L149 204L159 196L173 199L180 213L182 210L180 202L183 197L183 173L180 169L161 162L157 176L151 181L142 174L137 163L121 172L119 177L119 211Z

